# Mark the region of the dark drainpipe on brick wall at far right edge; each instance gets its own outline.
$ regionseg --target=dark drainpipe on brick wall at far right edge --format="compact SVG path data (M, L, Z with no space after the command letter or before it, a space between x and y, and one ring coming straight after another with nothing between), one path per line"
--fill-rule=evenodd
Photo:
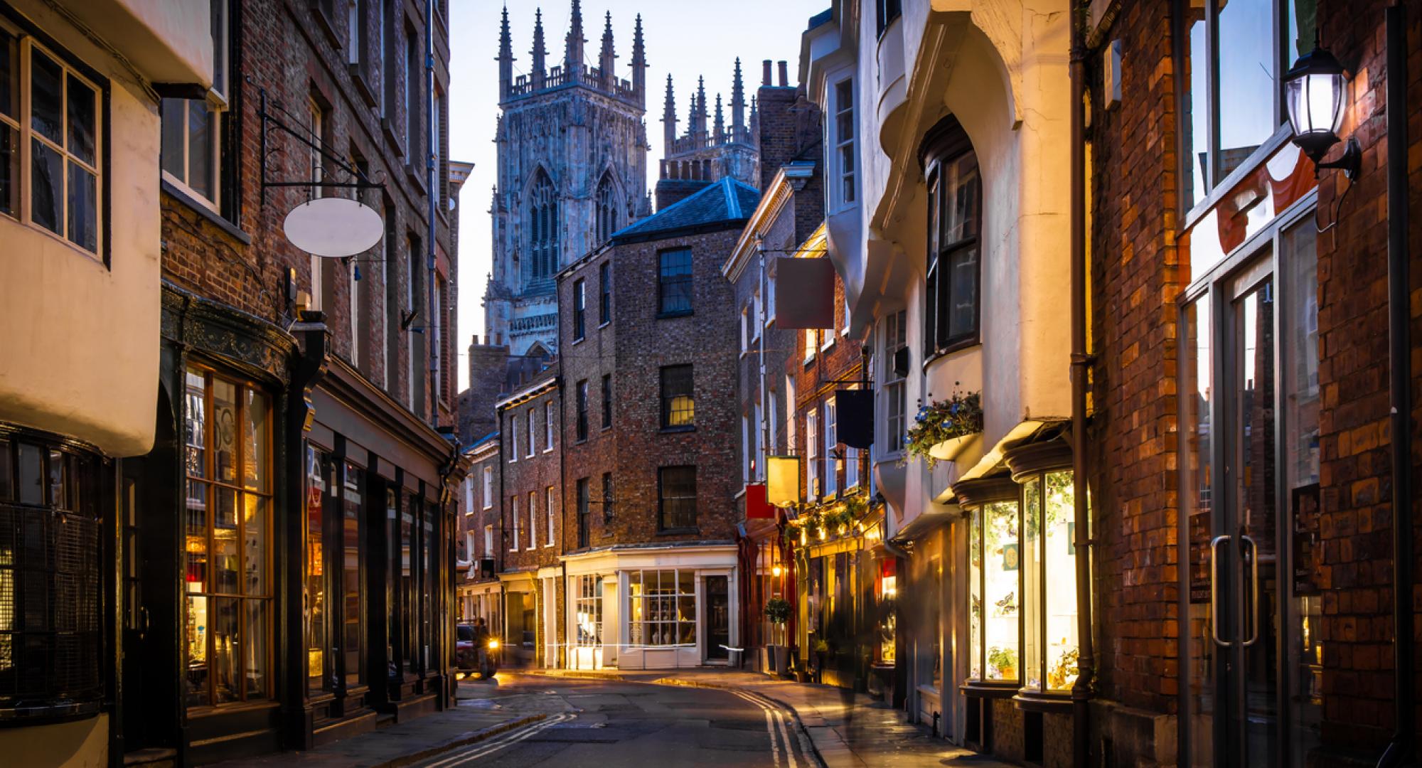
M1392 401L1392 703L1394 732L1381 767L1412 755L1412 371L1408 356L1408 70L1402 4L1388 27L1388 368Z

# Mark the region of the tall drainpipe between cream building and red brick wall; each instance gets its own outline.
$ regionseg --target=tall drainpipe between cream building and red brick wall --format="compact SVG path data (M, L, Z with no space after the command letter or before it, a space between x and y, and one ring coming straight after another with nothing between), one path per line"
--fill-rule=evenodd
M1075 6L1075 3L1074 3ZM1086 505L1086 374L1092 356L1086 351L1086 145L1085 91L1086 41L1078 7L1071 24L1071 442L1072 506L1076 521L1076 683L1071 690L1074 765L1085 768L1091 757L1089 698L1095 677L1091 641L1091 511Z

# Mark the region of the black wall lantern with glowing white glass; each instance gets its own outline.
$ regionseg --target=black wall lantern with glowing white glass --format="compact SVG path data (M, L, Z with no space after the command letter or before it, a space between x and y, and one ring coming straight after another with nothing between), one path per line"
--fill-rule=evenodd
M1322 162L1322 156L1338 138L1347 102L1348 78L1342 64L1328 48L1315 47L1298 57L1284 74L1284 102L1288 124L1294 129L1294 144L1320 168L1341 168L1348 179L1358 175L1362 148L1357 138L1348 138L1341 158Z

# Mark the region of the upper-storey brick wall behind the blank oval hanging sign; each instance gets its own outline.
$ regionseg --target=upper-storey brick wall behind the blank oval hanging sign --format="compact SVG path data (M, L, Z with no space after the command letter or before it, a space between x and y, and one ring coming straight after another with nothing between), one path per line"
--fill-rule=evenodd
M380 3L365 3L370 28L375 28L375 14L380 13ZM233 158L232 172L226 175L233 188L226 192L232 201L230 218L226 225L215 222L213 216L198 210L198 203L188 203L175 195L164 195L164 279L191 290L233 306L263 320L283 327L292 320L294 307L284 296L284 274L287 269L296 270L297 287L311 292L311 260L310 256L292 246L282 232L282 222L286 213L304 199L304 189L269 189L266 202L260 195L262 178L262 131L257 108L260 104L259 91L266 90L267 108L277 114L293 129L300 129L309 119L307 102L314 100L320 104L324 127L323 145L340 158L360 155L370 166L370 176L383 181L381 191L364 191L360 199L377 210L388 212L388 230L395 233L391 262L388 267L390 283L383 277L383 263L385 259L385 245L380 243L368 253L357 257L361 280L350 279L350 269L340 260L327 259L324 270L328 273L327 294L328 306L326 320L331 330L333 347L337 356L351 360L353 344L358 344L358 368L367 378L378 384L385 384L395 400L410 404L407 397L408 370L405 366L407 346L405 333L398 331L398 311L385 311L387 297L395 297L400 309L404 304L405 286L411 279L408 236L415 235L421 243L427 242L427 193L422 171L415 175L407 174L405 166L411 162L404 148L402 127L404 100L391 100L391 114L383 121L378 101L367 94L380 94L380 82L385 75L404 82L407 77L404 40L407 28L418 36L424 34L422 16L414 13L412 7L397 6L401 20L390 28L394 37L395 55L383 65L374 41L370 41L368 51L363 51L363 58L368 63L364 70L353 70L347 64L347 51L340 46L347 40L346 17L326 20L320 16L317 3L299 0L250 0L237 3L237 14L232 24L240 46L233 51L233 70L250 78L242 82L233 78L230 88L232 111L225 118L225 129L229 137L225 141L225 156ZM435 78L441 92L449 92L448 74L448 40L447 31L437 24L435 40ZM373 37L373 36L371 36ZM422 37L417 41L419 60L424 60ZM363 74L364 73L364 74ZM415 77L424 82L424 70L417 70ZM421 101L424 104L424 101ZM280 112L277 108L289 114ZM388 122L394 128L390 132L384 128ZM448 145L448 132L442 134L441 142ZM421 139L421 145L427 144ZM294 139L280 131L269 137L267 175L270 181L294 181L309 178L309 151L297 145ZM441 151L441 158L448 158L448 149ZM424 168L422 158L415 161L419 169ZM326 162L326 174L330 181L348 181L334 165ZM327 191L327 195L350 195L350 191ZM387 208L388 203L388 208ZM383 213L387 215L387 213ZM441 210L435 222L437 242L439 247L449 253L449 220L448 212ZM245 242L242 232L250 238ZM424 247L421 249L424 250ZM424 253L415 255L417 273L417 307L427 307L425 297L428 274L425 272ZM455 260L442 259L439 266L441 279L448 286L445 307L452 307L458 299L454 286L458 282L458 265ZM353 334L350 306L353 287L361 290L368 321L361 331ZM421 311L412 326L428 324L428 313ZM445 377L454 374L454 346L448 343L455 338L452 326L454 313L444 319L442 329L444 358L441 370ZM394 320L394 323L391 323ZM395 354L387 361L383 358L381 340L387 334L395 334L398 343L390 350ZM417 354L421 354L425 344L432 338L432 330L417 334ZM387 370L388 368L388 370ZM419 361L415 371L419 377L428 375L428 364ZM387 378L388 374L388 378ZM452 381L452 378L449 378ZM452 387L445 381L445 388ZM448 393L445 394L448 400ZM428 401L429 398L422 398ZM425 402L421 415L428 415L431 408ZM452 411L442 410L442 420L452 425Z

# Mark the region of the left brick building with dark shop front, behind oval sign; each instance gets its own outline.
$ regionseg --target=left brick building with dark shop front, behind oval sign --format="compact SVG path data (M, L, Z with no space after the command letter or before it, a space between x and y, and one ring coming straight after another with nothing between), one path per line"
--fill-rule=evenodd
M124 468L125 614L173 627L124 633L124 750L178 764L452 704L445 4L212 9L213 87L164 91L158 439ZM384 236L297 250L307 196Z

